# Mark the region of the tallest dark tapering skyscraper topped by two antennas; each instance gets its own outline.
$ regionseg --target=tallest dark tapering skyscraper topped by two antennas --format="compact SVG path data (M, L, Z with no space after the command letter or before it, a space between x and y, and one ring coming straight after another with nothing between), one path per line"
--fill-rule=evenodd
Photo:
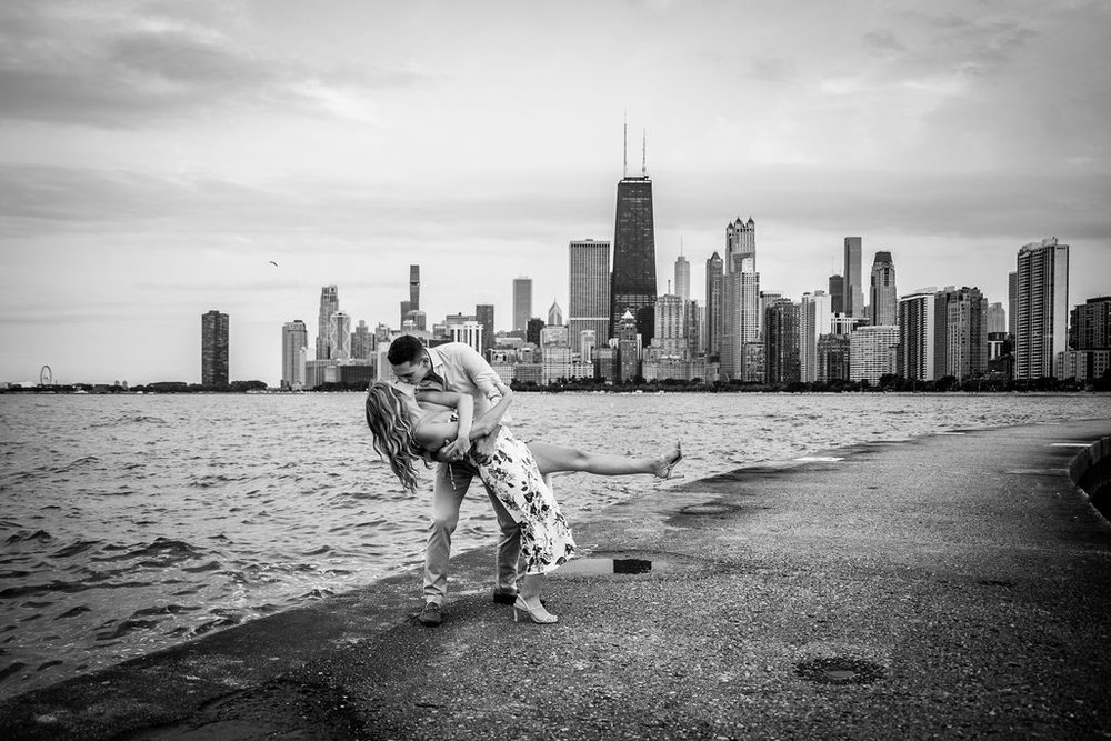
M648 177L648 138L639 176L629 174L628 129L624 177L618 183L613 226L613 272L610 278L610 337L617 337L621 317L631 311L647 346L655 323L655 222L652 180Z

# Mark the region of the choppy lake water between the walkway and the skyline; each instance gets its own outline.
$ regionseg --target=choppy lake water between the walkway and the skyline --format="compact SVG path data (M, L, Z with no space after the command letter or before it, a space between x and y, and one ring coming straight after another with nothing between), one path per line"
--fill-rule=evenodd
M401 490L361 415L361 394L0 395L0 697L420 563L429 497ZM524 440L609 452L682 439L690 480L857 442L1111 418L1111 397L518 394L513 417ZM654 485L565 474L557 493L573 524ZM484 495L462 515L457 552L493 540Z

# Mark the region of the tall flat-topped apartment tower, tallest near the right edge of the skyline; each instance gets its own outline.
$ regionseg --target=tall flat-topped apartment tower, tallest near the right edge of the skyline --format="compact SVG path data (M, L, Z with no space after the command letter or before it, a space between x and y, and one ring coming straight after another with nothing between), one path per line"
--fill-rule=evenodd
M1069 246L1055 237L1019 249L1015 284L1014 378L1053 374L1068 343Z

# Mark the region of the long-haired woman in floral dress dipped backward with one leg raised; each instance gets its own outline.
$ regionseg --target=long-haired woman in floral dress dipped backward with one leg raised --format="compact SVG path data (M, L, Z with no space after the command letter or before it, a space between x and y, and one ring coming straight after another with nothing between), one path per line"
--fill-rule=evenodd
M513 393L508 387L501 391L501 399L487 412L494 424L512 401ZM526 573L513 603L513 619L518 620L523 612L533 622L556 622L557 617L541 603L540 592L544 574L565 563L574 552L571 529L529 445L499 425L479 448L471 448L473 404L467 394L403 383L373 383L367 392L367 424L374 435L374 450L389 461L410 491L417 488L414 459L436 452L449 458L468 454L482 482L521 523ZM654 459L598 455L547 443L536 443L536 448L549 473L559 470L602 475L652 473L668 479L682 459L679 445Z

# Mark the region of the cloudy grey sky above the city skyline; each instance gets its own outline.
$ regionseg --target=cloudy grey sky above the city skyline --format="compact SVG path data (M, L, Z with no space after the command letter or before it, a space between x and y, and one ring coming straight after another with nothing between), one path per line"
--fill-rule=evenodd
M277 384L320 287L399 323L512 279L567 308L567 244L612 239L647 131L661 292L725 224L798 299L891 251L900 293L1007 298L1027 242L1111 293L1111 3L0 3L0 380ZM270 263L273 260L277 267ZM310 347L311 347L310 338Z

